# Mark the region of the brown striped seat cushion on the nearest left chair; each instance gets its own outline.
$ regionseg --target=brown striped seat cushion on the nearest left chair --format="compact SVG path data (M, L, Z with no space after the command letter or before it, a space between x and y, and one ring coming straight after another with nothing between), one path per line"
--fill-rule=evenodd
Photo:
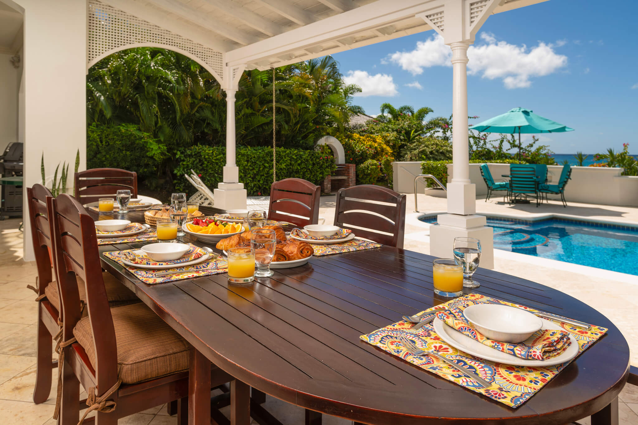
M117 345L117 371L124 384L135 384L188 369L188 343L143 303L111 308ZM95 365L89 317L73 329Z

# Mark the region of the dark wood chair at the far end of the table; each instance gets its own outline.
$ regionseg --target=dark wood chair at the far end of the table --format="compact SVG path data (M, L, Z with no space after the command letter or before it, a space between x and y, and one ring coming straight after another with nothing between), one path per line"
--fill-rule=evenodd
M130 190L137 198L137 173L119 168L93 168L75 173L75 198L82 205L100 198L115 198L117 191Z

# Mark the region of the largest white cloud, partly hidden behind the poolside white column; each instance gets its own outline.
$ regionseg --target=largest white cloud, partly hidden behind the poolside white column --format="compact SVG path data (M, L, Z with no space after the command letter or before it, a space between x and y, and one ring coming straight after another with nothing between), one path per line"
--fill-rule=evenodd
M531 77L549 75L567 66L567 56L554 52L554 46L542 41L536 47L512 45L496 41L494 34L482 32L485 41L468 48L468 73L483 78L500 78L508 89L530 87ZM431 66L451 66L452 50L438 34L426 41L417 42L411 52L396 52L388 59L412 75L423 73Z

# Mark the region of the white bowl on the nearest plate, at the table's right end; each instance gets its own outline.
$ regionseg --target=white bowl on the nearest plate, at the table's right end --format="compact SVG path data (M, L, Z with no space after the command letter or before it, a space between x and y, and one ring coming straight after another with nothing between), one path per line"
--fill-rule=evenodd
M508 305L475 304L463 313L477 331L500 342L523 342L543 326L539 317Z

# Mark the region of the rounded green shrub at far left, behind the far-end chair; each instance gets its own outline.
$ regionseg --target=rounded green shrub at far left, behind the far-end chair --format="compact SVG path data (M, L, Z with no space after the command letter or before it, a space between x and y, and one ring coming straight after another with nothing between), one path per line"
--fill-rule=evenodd
M135 124L91 124L87 128L87 168L122 168L135 171L138 181L156 179L166 146Z

